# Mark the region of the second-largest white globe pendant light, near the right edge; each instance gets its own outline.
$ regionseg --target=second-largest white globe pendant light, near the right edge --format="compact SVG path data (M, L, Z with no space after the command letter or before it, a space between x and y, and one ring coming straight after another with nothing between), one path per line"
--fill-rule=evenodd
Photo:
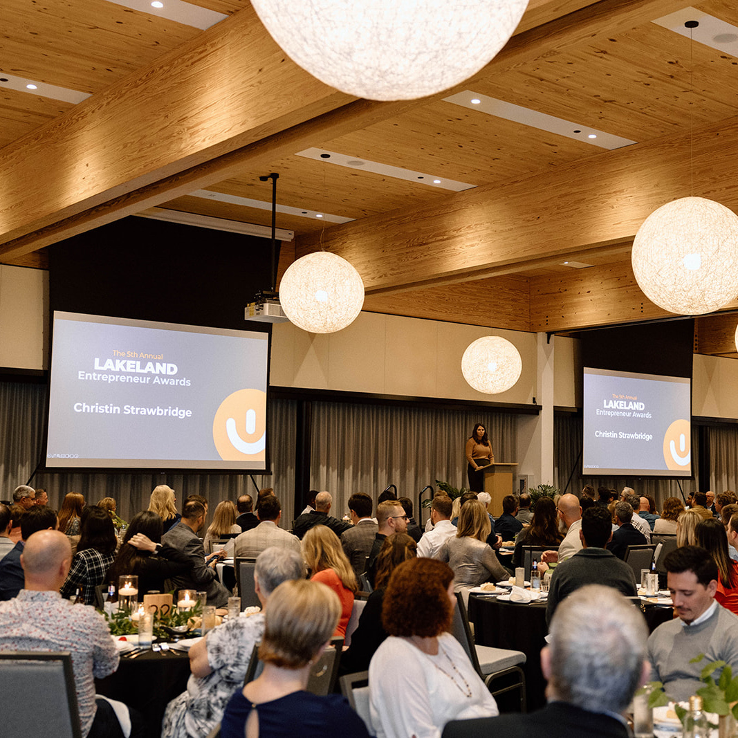
M669 202L638 229L631 260L638 286L664 310L717 310L738 296L738 216L703 197Z

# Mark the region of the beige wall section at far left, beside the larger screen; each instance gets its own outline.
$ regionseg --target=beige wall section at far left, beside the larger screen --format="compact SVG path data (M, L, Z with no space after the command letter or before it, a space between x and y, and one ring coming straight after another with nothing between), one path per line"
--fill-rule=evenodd
M0 264L0 367L49 364L49 272Z

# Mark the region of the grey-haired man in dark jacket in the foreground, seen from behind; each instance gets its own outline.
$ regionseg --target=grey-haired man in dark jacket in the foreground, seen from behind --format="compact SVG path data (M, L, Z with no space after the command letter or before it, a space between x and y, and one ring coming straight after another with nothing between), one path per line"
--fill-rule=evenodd
M541 651L545 708L459 720L449 723L444 738L627 738L621 715L648 678L647 635L643 615L615 590L582 587L556 611Z

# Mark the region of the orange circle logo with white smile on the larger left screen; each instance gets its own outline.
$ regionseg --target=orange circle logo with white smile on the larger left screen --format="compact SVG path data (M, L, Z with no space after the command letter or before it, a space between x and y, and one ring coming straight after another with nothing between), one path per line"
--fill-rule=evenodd
M266 392L238 390L221 402L213 441L224 461L266 460Z

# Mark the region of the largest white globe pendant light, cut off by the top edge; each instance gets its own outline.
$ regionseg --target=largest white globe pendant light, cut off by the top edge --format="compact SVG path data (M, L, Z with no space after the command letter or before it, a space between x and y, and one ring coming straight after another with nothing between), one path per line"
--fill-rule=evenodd
M282 49L322 82L369 100L413 100L478 72L528 0L252 0Z

